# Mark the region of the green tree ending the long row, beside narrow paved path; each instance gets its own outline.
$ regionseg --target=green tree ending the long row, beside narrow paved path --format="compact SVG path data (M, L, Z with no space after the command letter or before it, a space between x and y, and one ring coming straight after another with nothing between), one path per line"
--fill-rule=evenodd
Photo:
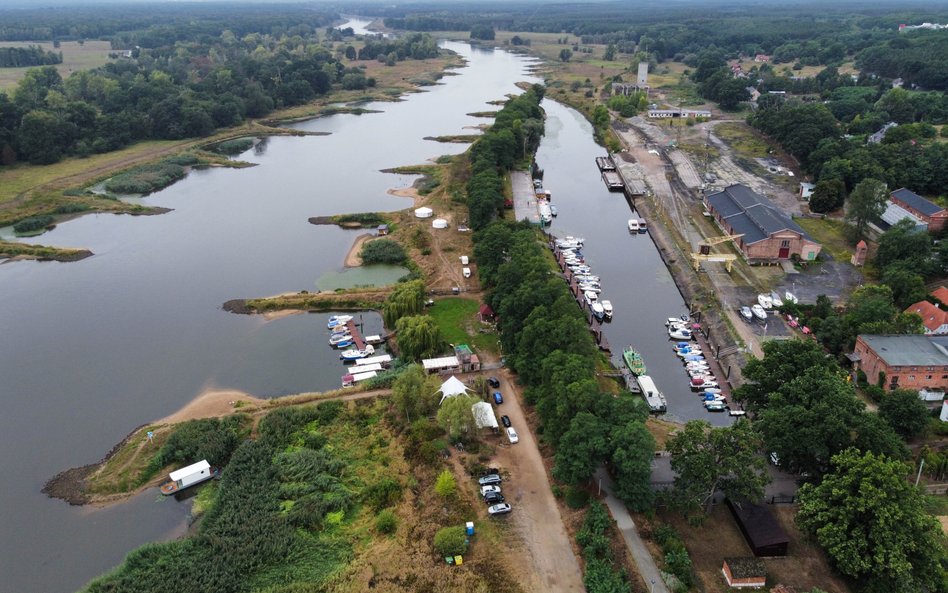
M630 420L613 427L608 448L616 477L616 496L633 511L647 511L655 498L652 491L655 439L645 423Z

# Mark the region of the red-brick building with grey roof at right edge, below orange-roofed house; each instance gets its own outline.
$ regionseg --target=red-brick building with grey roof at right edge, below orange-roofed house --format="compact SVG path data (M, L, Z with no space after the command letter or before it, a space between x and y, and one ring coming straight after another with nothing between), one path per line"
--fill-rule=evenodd
M948 389L948 336L860 335L850 360L888 390Z

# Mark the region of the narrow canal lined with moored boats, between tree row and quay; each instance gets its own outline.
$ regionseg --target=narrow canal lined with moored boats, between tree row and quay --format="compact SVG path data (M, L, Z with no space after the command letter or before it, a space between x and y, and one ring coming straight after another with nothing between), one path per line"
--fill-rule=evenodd
M592 273L602 280L600 299L612 301L615 313L603 325L622 367L622 349L642 353L648 374L668 401L670 420L707 420L724 426L731 418L708 413L688 386L688 376L672 351L665 319L687 313L681 293L648 234L630 234L632 216L622 193L610 192L600 177L595 158L606 154L593 140L592 125L575 109L545 99L546 134L537 151L543 186L552 192L558 211L550 232L584 237L582 251Z

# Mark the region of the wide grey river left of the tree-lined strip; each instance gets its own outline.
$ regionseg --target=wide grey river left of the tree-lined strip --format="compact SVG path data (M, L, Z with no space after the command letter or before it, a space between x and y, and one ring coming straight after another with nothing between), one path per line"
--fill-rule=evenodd
M366 106L382 113L298 124L331 135L270 138L240 156L257 167L196 171L143 199L168 214L93 214L33 239L94 257L0 265L0 593L74 591L136 546L186 529L190 503L155 491L107 508L48 499L40 489L57 472L95 462L209 388L338 386L325 315L267 321L220 305L313 290L341 271L360 231L309 217L409 207L386 191L413 178L379 170L462 152L423 138L471 133L484 120L467 113L534 81L527 58L443 45L467 66L405 101Z

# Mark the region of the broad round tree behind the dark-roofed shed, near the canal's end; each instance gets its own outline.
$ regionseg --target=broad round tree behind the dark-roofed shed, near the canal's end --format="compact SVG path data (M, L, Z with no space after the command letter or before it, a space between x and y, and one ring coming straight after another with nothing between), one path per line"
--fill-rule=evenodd
M719 492L735 500L760 500L769 482L760 435L740 419L727 428L692 420L668 441L674 498L686 510L711 511Z

